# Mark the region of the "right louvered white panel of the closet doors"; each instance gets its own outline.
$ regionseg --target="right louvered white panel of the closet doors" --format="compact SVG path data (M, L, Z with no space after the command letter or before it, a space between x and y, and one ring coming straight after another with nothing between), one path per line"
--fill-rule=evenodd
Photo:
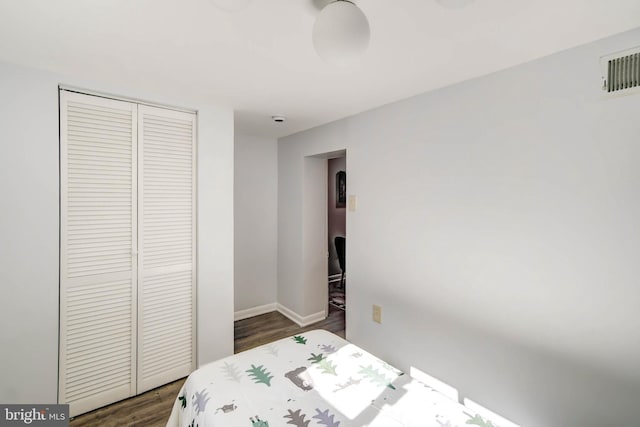
M195 369L195 124L139 106L138 393Z

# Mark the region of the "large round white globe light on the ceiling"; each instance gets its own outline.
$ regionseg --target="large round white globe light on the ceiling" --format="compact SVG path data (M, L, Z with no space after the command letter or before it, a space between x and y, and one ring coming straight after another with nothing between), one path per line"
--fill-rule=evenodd
M369 21L349 0L325 6L313 26L313 46L326 62L345 65L360 57L369 46Z

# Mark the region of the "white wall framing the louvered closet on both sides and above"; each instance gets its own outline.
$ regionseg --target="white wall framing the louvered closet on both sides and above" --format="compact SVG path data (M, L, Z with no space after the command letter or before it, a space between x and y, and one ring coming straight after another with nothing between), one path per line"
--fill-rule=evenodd
M233 353L233 112L0 63L0 402L57 401L58 84L198 110L198 363Z

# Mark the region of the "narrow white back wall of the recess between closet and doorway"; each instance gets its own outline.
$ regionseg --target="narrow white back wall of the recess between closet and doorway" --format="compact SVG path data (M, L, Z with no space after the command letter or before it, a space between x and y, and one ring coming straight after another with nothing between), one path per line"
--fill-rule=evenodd
M278 146L275 138L235 136L235 311L275 304Z

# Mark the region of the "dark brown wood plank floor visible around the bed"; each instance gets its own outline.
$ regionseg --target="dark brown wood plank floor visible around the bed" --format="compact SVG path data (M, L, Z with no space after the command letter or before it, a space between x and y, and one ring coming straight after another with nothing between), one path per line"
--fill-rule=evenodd
M239 353L312 329L326 329L344 338L344 311L330 306L329 316L325 320L304 328L275 311L239 320L234 324L234 351ZM165 426L184 380L75 417L70 427Z

